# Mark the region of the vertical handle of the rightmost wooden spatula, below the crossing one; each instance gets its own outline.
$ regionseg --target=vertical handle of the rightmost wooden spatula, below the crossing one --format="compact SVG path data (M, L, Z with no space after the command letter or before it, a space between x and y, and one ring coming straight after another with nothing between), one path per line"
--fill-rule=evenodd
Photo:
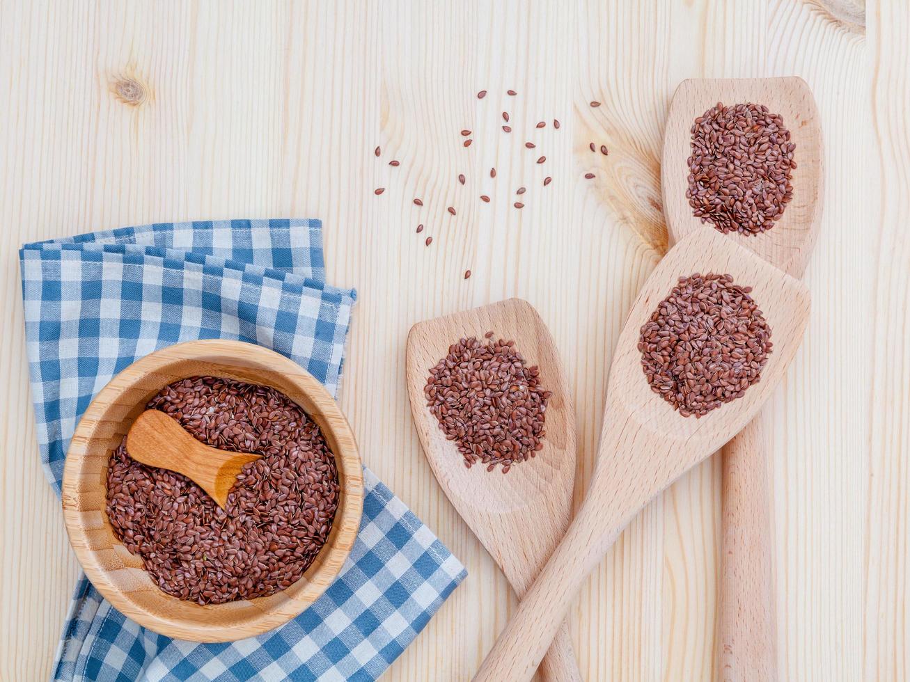
M721 679L777 679L771 495L762 416L723 447Z

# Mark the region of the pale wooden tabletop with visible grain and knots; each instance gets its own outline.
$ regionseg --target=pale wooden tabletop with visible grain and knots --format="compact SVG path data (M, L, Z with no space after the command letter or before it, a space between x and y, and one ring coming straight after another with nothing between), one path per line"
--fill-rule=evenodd
M805 78L825 142L812 319L767 407L780 667L791 680L910 677L910 15L861 1L3 0L0 679L47 677L78 572L38 463L20 244L321 218L329 281L359 289L340 402L364 460L470 571L385 679L464 680L516 602L420 451L405 335L506 296L536 306L575 401L577 502L623 316L666 246L673 88L759 75ZM717 677L719 484L716 458L685 476L582 589L569 622L587 679Z

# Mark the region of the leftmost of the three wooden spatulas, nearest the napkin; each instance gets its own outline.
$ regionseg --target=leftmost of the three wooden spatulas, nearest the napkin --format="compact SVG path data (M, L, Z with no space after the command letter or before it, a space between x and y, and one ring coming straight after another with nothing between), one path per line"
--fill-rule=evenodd
M552 392L543 449L511 466L508 474L488 472L480 464L464 466L423 393L430 367L448 354L451 344L466 336L483 340L487 332L515 341L527 363L540 367L541 386ZM420 443L440 486L523 596L569 527L575 478L575 415L550 332L537 311L518 298L420 322L408 335L407 381ZM566 627L554 627L553 632L557 636L543 657L541 675L581 680Z

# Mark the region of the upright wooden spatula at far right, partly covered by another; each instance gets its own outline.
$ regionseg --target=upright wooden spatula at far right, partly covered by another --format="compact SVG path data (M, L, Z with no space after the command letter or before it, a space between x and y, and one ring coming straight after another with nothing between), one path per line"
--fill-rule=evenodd
M682 81L673 94L663 138L661 185L671 243L713 229L686 199L689 130L717 102L753 102L784 117L796 145L793 201L767 232L727 236L794 277L802 277L821 222L822 132L802 78ZM723 551L720 586L721 671L729 682L777 679L771 499L761 416L723 446Z

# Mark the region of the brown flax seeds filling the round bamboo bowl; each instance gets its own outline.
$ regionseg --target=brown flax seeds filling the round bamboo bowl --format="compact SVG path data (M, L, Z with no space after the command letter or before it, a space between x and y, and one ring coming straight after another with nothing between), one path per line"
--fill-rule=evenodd
M339 477L319 426L288 396L214 376L165 386L147 405L208 446L261 458L243 467L225 509L186 476L145 466L126 438L107 466L107 517L168 595L197 604L265 597L319 554Z

